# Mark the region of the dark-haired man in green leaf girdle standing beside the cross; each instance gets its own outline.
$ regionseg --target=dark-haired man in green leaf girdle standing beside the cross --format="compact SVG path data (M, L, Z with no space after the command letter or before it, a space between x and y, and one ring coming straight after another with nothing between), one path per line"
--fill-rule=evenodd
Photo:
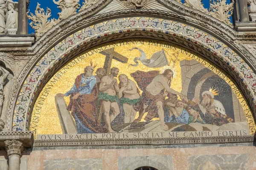
M102 77L101 82L99 84L99 99L102 102L102 108L104 112L105 126L109 133L115 133L111 127L111 122L116 118L116 116L120 113L119 106L117 101L119 97L116 96L119 93L119 87L117 85L117 77L119 73L118 68L111 68L110 74ZM113 113L109 115L109 111L112 109Z

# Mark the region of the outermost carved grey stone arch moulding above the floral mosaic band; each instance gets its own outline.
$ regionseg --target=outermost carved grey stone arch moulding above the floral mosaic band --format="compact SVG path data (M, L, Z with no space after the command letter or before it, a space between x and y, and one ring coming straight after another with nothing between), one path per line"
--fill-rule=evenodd
M47 31L41 38L39 38L32 46L32 48L30 48L29 50L20 49L14 52L10 49L5 49L3 51L13 53L14 55L24 55L30 57L29 62L26 64L26 66L23 67L23 70L20 71L20 73L18 74L17 85L13 86L11 89L12 97L9 100L8 110L6 112L7 117L9 118L6 122L8 130L12 129L12 115L15 112L16 99L19 96L21 86L23 82L25 82L26 77L29 75L30 71L32 71L34 66L38 63L38 61L55 45L61 42L61 40L64 40L65 37L68 37L70 34L73 34L76 31L81 30L82 28L87 28L96 23L100 23L104 21L106 18L114 19L121 17L148 16L162 18L166 20L175 20L179 23L194 26L194 28L198 28L200 30L208 32L208 34L212 35L212 37L215 37L221 42L224 42L229 47L229 49L235 51L236 55L242 58L254 72L256 71L255 65L252 64L255 62L253 57L251 55L247 55L247 53L244 52L244 48L242 48L242 46L239 45L239 40L253 40L255 34L248 34L247 37L243 37L242 34L237 34L236 31L221 23L220 21L208 15L204 15L204 13L200 11L188 8L176 2L171 2L169 0L157 0L159 3L162 3L164 6L170 9L170 11L168 12L151 9L130 9L125 11L113 11L97 15L97 12L102 10L111 1L112 0L99 0L90 8L81 11L73 16L70 16L66 20L61 21L55 27ZM118 14L118 17L116 14ZM211 32L209 32L209 30Z

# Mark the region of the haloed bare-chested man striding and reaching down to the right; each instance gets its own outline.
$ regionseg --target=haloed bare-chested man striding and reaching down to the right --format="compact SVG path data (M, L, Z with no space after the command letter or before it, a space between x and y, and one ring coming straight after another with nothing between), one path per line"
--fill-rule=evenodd
M155 105L157 106L157 114L159 116L160 123L163 127L163 130L169 129L169 127L164 123L164 111L163 111L163 102L165 97L168 94L167 92L183 97L182 94L170 88L169 81L172 80L172 77L173 77L173 71L170 69L166 69L166 71L164 71L163 74L159 74L156 77L154 77L151 83L145 88L145 91L144 91L145 95L142 96L144 98L142 99L142 101L144 100L145 102L143 102L144 104L139 111L138 119L134 120L135 123L139 122L142 119L145 113L145 109L149 105L151 105L151 104L148 104L147 101L151 100L152 101L151 103L153 103L154 100L156 100L157 102L155 103ZM162 90L166 90L166 93L161 94ZM147 103L147 105L145 103Z

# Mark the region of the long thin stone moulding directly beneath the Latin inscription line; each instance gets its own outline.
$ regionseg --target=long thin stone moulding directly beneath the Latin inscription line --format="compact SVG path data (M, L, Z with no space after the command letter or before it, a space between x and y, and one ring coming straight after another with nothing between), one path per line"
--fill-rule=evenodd
M35 140L34 147L243 143L253 142L253 139L254 136L185 137L158 139L59 139Z

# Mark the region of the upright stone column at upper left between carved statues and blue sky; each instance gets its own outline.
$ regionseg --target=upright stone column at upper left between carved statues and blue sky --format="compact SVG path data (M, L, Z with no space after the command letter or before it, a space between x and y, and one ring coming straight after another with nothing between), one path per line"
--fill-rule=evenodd
M29 0L18 1L18 34L28 34L28 18L26 12Z

